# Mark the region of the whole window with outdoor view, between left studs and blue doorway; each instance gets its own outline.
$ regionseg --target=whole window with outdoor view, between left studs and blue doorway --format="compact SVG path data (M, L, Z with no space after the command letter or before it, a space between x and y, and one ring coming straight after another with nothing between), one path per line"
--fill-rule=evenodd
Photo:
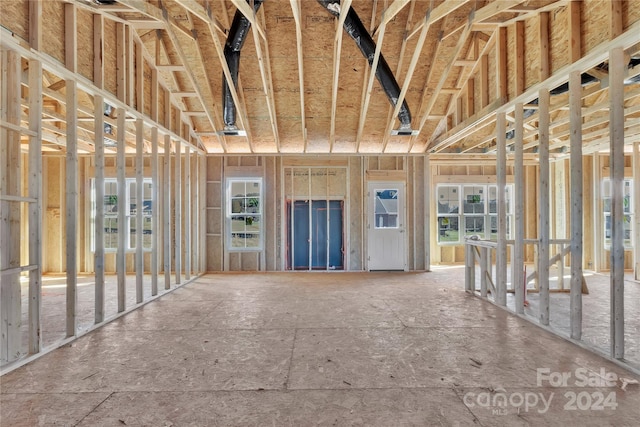
M227 179L227 247L262 250L262 179Z

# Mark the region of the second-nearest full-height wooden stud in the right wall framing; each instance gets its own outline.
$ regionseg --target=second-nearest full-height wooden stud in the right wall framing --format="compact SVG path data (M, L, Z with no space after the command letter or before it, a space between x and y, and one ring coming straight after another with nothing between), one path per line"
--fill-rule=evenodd
M569 75L571 144L571 338L582 338L582 85L579 71Z

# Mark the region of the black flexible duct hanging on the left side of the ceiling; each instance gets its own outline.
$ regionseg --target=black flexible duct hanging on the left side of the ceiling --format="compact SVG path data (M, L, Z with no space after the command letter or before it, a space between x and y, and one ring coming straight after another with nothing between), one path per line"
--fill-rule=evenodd
M253 10L255 12L260 9L263 0L253 0ZM247 0L251 4L251 0ZM231 72L231 80L233 86L238 87L238 70L240 69L240 50L244 45L244 41L249 34L251 22L240 12L236 10L233 16L233 22L229 29L229 35L224 45L224 59ZM231 89L227 84L227 79L222 75L222 116L225 129L235 129L236 127L236 104L233 102Z

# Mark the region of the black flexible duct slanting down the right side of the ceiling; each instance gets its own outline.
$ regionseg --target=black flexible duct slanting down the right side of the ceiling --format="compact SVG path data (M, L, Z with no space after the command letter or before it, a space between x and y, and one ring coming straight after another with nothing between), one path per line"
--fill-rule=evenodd
M327 9L333 16L340 16L339 0L318 0L318 3ZM362 52L362 55L367 58L369 66L371 67L373 65L373 57L376 52L376 44L365 26L362 24L362 21L360 20L360 17L358 17L356 11L353 10L353 7L349 8L349 12L347 12L346 19L344 20L344 30L356 42L360 52ZM384 93L387 94L389 102L391 102L391 105L395 107L398 102L398 98L400 98L400 86L398 86L398 82L382 54L380 54L380 58L378 59L376 78L380 82ZM409 105L407 105L406 100L402 101L402 106L398 113L398 119L400 120L400 123L402 123L402 127L410 127L411 112L409 111Z

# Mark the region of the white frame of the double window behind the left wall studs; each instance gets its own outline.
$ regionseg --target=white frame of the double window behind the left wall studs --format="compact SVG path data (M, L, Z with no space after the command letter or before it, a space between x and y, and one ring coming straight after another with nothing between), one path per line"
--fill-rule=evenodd
M152 179L151 178L144 178L143 179L143 185L144 184L149 184L151 186L153 186L152 184ZM126 233L126 241L125 241L125 252L130 253L130 252L135 252L136 251L136 240L131 238L131 234L132 234L132 229L135 229L135 221L132 221L132 219L135 220L135 214L131 213L131 184L136 184L137 180L136 178L127 178L125 180L125 203L123 204L124 206L127 206L127 210L126 210L126 214L125 214L125 223L128 224L129 226L127 227L128 231ZM116 186L116 194L117 194L117 188L118 188L118 180L116 178L105 178L104 180L104 184L105 186L107 184L115 184ZM153 194L153 191L151 192ZM105 191L105 196L108 196L108 194L106 194ZM135 195L134 195L135 197ZM145 200L149 200L149 199L145 199ZM95 252L96 250L96 228L95 228L95 218L96 218L96 182L95 179L91 180L91 251ZM121 205L118 203L118 208ZM151 199L151 206L152 206L152 212L150 215L144 215L146 218L151 218L153 217L153 215L156 215L157 212L155 211L154 207L156 206L156 203L153 199ZM115 213L114 215L108 215L105 214L104 215L105 218L105 228L107 226L106 220L108 218L118 218L118 214ZM132 224L133 223L133 224ZM134 234L135 235L135 234ZM106 239L105 239L105 248L104 251L105 253L116 253L118 251L117 246L116 247L107 247L106 246ZM143 252L151 252L151 245L145 247L142 247Z

